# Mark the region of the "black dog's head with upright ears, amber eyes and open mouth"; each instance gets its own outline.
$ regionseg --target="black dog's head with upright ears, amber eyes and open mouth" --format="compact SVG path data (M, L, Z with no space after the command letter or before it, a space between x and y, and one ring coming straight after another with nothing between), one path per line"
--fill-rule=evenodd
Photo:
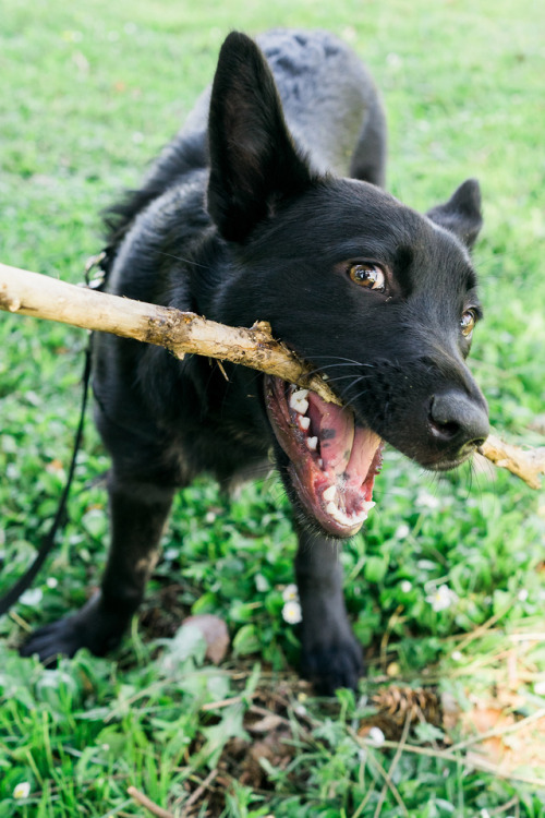
M220 317L269 321L344 400L339 408L265 377L295 506L328 534L349 537L372 505L383 441L445 470L488 434L465 365L482 314L470 258L479 184L464 182L422 216L365 182L316 176L263 56L239 34L221 51L209 148L208 212L233 260Z

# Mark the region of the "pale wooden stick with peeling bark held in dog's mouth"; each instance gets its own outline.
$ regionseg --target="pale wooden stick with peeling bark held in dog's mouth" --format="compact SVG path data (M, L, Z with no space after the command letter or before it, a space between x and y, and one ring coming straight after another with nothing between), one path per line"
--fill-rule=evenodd
M341 406L310 364L272 338L265 321L250 329L229 327L195 313L97 292L1 263L0 310L155 344L180 359L194 353L241 363L313 389L324 400ZM520 448L491 435L479 450L532 489L540 488L540 474L545 474L545 447Z

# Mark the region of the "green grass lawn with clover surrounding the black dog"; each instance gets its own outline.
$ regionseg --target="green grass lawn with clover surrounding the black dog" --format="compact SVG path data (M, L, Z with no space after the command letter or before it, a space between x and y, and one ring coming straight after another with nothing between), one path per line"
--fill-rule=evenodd
M227 32L274 25L327 27L367 61L388 110L388 187L405 204L425 209L464 178L481 180L475 261L486 321L473 371L496 429L543 445L532 428L545 404L545 10L536 1L4 0L0 260L81 280L100 249L100 208L137 183L177 130ZM0 592L55 514L84 345L75 329L0 317ZM379 718L371 697L388 685L438 690L469 721L484 702L517 718L545 706L543 492L499 472L437 482L393 452L386 460L366 537L341 556L370 667L362 697L319 701L296 682L296 630L281 617L294 538L275 481L230 504L214 484L184 491L122 650L45 671L19 658L24 630L78 606L104 565L108 461L89 423L70 521L38 594L0 621L0 818L148 814L130 785L177 816L543 818L543 729L516 723L505 738L523 736L535 763L514 744L526 766L487 757L489 771L469 755L479 744L449 755L449 741L471 737L468 720L420 725L401 753L402 725L391 747L358 735ZM435 612L426 598L441 585L458 601ZM234 647L219 669L191 633L172 638L191 612L229 623ZM264 713L277 721L262 734ZM15 798L23 782L28 796Z

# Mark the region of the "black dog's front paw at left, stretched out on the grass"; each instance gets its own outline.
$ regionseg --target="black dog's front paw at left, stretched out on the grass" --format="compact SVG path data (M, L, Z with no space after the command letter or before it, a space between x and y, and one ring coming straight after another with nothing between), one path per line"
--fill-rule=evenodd
M55 664L60 655L73 657L80 648L104 655L119 645L126 624L125 617L106 615L100 598L96 597L73 616L34 630L21 647L20 654L37 654L48 665Z

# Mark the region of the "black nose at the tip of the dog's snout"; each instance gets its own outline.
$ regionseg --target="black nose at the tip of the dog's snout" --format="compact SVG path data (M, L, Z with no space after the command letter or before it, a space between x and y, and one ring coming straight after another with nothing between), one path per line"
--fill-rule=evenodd
M484 399L462 392L435 395L429 408L429 428L437 441L461 448L476 448L488 436L488 412Z

